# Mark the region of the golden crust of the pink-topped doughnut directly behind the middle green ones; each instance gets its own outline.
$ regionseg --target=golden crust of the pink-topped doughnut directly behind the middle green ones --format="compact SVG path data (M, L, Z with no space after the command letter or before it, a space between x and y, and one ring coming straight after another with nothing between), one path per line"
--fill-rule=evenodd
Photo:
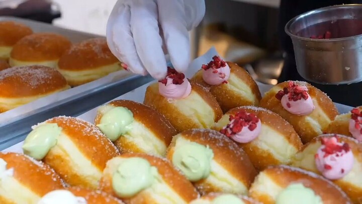
M296 149L296 151L299 151L302 148L303 144L299 138L299 135L294 130L293 126L278 114L266 110L264 108L243 106L243 107L233 108L229 110L225 115L235 115L239 111L246 111L247 113L255 114L260 119L262 125L267 125L269 128L273 128L275 131L277 131L280 137L284 137L285 140L288 141L289 145L293 146ZM220 125L218 125L217 128L213 127L213 129L219 131L220 130L219 127ZM264 151L263 149L259 148L258 147L259 142L257 139L245 144L242 143L236 143L236 144L241 148L243 148L243 150L249 156L252 164L258 170L262 170L269 165L286 164L276 159L276 157L272 153Z

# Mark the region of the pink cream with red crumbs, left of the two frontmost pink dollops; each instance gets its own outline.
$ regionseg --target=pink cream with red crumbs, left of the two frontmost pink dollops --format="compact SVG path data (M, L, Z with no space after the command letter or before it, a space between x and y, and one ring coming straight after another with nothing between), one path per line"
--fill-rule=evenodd
M252 113L239 111L234 116L230 115L229 121L220 132L235 142L248 143L257 138L261 132L261 121Z

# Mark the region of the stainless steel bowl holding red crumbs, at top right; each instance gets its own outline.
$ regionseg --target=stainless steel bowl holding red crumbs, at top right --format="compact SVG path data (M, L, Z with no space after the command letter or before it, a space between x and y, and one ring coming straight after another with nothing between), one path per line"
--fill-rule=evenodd
M297 70L320 84L362 81L362 5L341 5L310 11L288 22ZM331 33L329 39L312 36Z

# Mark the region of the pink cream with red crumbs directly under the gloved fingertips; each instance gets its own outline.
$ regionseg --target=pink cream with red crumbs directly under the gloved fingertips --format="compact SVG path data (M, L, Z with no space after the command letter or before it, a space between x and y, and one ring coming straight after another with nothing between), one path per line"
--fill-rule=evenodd
M158 91L165 98L182 99L191 93L191 84L185 75L167 67L167 76L158 81Z

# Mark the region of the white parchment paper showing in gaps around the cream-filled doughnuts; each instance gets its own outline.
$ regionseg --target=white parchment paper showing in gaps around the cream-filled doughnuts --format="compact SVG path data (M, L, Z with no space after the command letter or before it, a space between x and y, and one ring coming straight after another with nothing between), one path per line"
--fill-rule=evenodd
M190 64L190 67L189 67L189 70L187 73L185 73L186 77L187 78L191 78L198 70L201 69L201 65L202 64L205 64L205 63L208 63L211 58L215 55L218 55L216 49L213 47L211 48L207 53L205 53L203 56L200 56L199 58L196 58L194 61L192 61L192 63ZM144 95L145 95L145 92L146 92L146 88L154 83L156 81L153 81L153 82L150 82L148 84L145 84L131 92L128 92L120 97L117 97L115 98L114 100L120 100L120 99L123 99L123 100L132 100L132 101L136 101L136 102L139 102L139 103L143 103L143 99L144 99ZM260 89L260 92L261 94L263 95L266 91L268 91L271 87L273 87L273 85L265 85L265 84L261 84L261 83L257 83L258 86L259 86L259 89ZM113 100L112 100L113 101ZM338 108L338 111L340 113L346 113L346 112L349 112L352 107L350 106L346 106L346 105L342 105L342 104L338 104L338 103L335 103L335 105L337 106ZM82 114L82 115L79 115L78 118L80 119L83 119L85 121L88 121L88 122L92 122L94 121L95 117L96 117L96 112L97 112L97 108L94 108L92 110L89 110L88 112ZM19 143L19 144L16 144L6 150L4 150L5 152L18 152L18 153L22 153L22 149L21 149L21 146L22 146L23 143Z

